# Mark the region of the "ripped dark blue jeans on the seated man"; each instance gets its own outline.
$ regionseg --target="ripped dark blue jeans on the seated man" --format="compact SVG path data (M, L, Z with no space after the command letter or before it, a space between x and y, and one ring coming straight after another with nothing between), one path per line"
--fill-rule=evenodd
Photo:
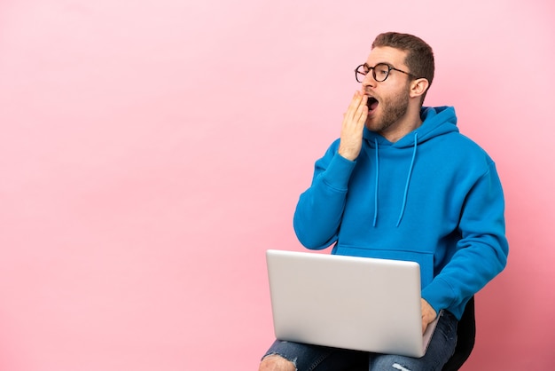
M438 320L432 340L422 358L411 358L389 354L349 351L305 343L276 340L264 357L277 354L293 362L298 371L340 370L401 370L434 371L443 365L455 352L457 344L457 319L444 311Z

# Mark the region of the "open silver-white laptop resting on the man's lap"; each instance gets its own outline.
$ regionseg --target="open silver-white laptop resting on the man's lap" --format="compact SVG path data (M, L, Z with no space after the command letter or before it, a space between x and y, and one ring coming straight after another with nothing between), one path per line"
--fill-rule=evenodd
M418 263L271 249L266 259L277 339L426 353L437 320L422 335Z

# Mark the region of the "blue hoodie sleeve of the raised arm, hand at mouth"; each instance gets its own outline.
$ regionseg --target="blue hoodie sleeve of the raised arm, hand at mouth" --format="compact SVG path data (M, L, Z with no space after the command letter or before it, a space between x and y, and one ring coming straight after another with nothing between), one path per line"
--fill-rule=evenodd
M293 228L307 249L325 249L337 241L348 179L356 165L337 153L338 146L339 139L316 162L312 184L295 209Z

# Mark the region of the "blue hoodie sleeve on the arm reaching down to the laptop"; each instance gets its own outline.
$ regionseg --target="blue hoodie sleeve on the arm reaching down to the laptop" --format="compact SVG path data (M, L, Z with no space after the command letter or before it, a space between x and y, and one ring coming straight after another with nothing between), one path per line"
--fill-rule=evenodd
M422 292L436 312L465 304L507 263L504 196L494 162L467 194L459 232L455 254Z

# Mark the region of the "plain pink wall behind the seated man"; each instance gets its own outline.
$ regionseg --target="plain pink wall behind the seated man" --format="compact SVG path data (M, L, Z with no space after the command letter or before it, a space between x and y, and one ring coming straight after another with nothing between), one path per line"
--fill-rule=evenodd
M465 370L555 356L555 5L0 3L0 369L247 370L265 249L339 136L379 32L434 47L426 105L494 157L511 255Z

